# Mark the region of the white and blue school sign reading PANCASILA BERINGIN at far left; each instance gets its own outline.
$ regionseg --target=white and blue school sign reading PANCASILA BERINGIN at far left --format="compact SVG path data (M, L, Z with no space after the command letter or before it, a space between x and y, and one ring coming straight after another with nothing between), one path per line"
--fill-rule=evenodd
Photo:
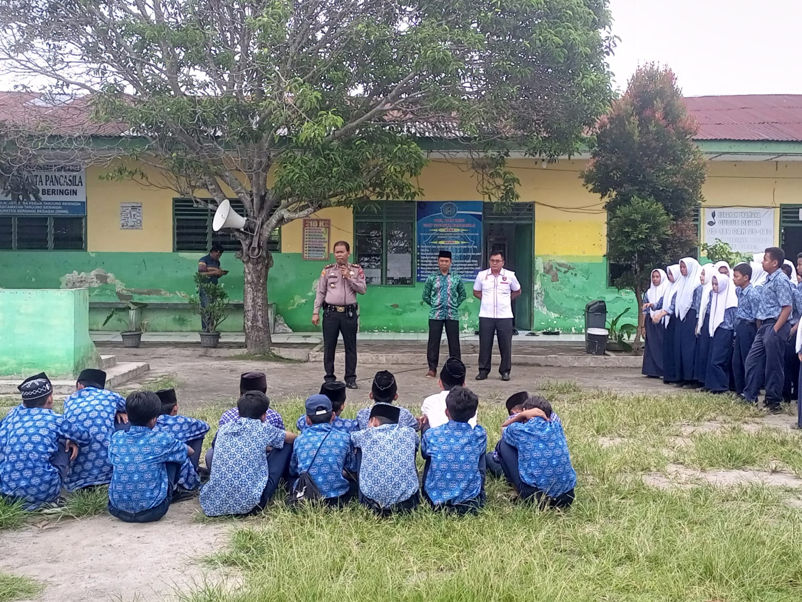
M41 201L15 203L0 195L0 215L86 215L87 172L78 165L41 165L28 177Z

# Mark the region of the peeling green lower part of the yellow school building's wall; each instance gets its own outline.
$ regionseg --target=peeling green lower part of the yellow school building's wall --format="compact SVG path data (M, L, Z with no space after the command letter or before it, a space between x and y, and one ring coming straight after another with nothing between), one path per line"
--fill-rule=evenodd
M134 299L144 303L187 303L193 294L192 276L201 253L87 253L63 251L0 252L0 287L89 288L91 302ZM325 265L303 261L300 254L275 254L270 270L269 299L296 332L310 332L314 289ZM333 261L333 258L332 258ZM242 300L242 268L233 254L221 259L231 273L221 284L234 301ZM534 279L534 327L537 330L582 332L585 303L605 299L608 315L625 307L635 321L634 299L606 287L607 264L603 258L536 257ZM471 295L462 309L462 327L473 330L478 323L479 301ZM423 283L412 287L369 287L360 297L361 326L367 331L425 332L428 307L421 303ZM124 315L101 327L107 308L92 308L91 329L124 329ZM200 319L186 308L148 307L144 310L150 331L196 331ZM243 328L242 311L233 309L221 330Z

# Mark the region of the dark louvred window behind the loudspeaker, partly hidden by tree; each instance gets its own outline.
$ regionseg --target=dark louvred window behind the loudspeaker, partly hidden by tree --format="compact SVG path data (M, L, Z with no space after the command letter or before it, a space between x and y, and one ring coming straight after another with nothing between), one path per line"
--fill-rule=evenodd
M245 207L239 199L230 199L231 208L240 215L245 215ZM214 244L220 244L225 250L238 251L242 246L233 235L232 230L212 230L214 219L212 207L196 205L192 199L176 198L172 201L173 250L176 251L208 251ZM273 230L267 240L267 248L272 253L282 250L281 233Z

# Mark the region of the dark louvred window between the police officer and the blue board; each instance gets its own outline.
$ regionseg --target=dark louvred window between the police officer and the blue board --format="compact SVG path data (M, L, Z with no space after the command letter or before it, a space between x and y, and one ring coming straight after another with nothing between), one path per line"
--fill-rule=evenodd
M415 282L415 203L354 207L354 257L368 284Z

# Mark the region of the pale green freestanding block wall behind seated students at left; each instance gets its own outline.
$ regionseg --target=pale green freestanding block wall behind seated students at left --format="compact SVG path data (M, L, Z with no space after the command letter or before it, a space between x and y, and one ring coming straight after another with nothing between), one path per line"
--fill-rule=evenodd
M86 289L0 289L0 375L75 378L96 368Z

